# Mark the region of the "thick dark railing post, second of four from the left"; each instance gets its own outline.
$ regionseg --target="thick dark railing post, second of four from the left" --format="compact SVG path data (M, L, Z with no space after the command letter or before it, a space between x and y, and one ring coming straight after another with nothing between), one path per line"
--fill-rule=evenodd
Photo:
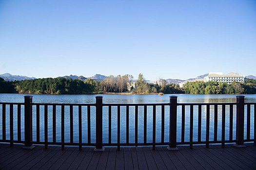
M102 147L102 96L96 96L96 148L94 151L105 151Z

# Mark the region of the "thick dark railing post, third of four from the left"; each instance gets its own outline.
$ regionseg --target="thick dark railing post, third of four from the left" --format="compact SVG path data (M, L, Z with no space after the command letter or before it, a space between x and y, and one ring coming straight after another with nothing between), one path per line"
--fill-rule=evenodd
M170 131L168 150L177 149L177 96L170 96Z

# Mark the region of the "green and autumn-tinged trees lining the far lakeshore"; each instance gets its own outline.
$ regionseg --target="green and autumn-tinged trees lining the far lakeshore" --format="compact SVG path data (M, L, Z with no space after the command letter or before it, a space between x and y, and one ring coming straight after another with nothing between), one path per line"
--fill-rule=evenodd
M43 78L22 81L4 81L0 78L0 93L28 94L256 94L256 80L248 79L246 83L232 84L218 82L188 82L183 88L175 84L149 84L140 73L138 80L131 75L109 76L101 82L94 79L81 81L66 78Z

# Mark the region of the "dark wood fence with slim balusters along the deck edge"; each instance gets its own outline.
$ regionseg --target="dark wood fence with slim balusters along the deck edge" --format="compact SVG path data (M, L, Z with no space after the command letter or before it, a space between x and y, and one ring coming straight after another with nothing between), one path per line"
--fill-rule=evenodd
M170 149L175 149L177 145L190 145L193 148L193 144L205 144L206 147L209 147L211 143L221 143L222 147L225 146L225 143L236 143L238 146L243 146L244 142L254 141L256 145L256 103L245 103L244 96L236 96L236 103L177 103L177 96L170 96L169 103L150 103L150 104L104 104L102 102L102 97L96 97L95 104L65 104L65 103L33 103L32 96L24 96L24 103L10 103L10 102L0 102L2 105L2 139L0 142L10 143L10 147L14 143L23 143L25 147L31 147L33 144L43 144L45 148L48 145L61 145L61 149L64 149L65 145L76 145L79 146L79 150L82 149L82 146L95 146L96 149L102 149L104 146L117 146L118 150L120 146L153 146L155 149L156 145L169 145ZM9 105L10 115L9 115L9 134L10 139L6 139L6 105ZM17 105L17 134L18 140L13 139L13 107ZM21 140L21 105L24 105L24 140ZM37 138L35 141L32 140L32 106L36 105L36 135ZM44 106L44 141L40 141L40 105ZM210 134L210 106L214 106L214 140L209 140ZM247 127L246 132L247 136L244 137L244 119L245 119L245 105L247 105ZM251 131L251 105L254 105L254 137L250 138ZM48 142L48 106L52 106L52 142ZM56 142L56 106L61 106L61 142ZM70 142L64 141L64 113L65 106L69 106L70 111ZM74 142L73 140L73 106L78 106L79 108L79 142ZM82 106L87 107L87 142L82 142ZM117 143L112 143L111 136L111 108L112 106L117 107ZM129 109L130 106L135 107L135 142L129 142ZM143 142L138 142L138 106L144 107L144 121L143 121ZM147 106L153 106L153 136L152 142L147 141ZM156 142L156 106L161 107L161 141ZM169 109L169 141L165 142L164 140L164 123L165 123L165 106L170 107ZM177 142L177 106L181 106L181 141ZM190 107L190 123L189 123L189 141L185 141L185 106ZM193 140L193 118L194 118L194 106L198 107L198 124L197 124L197 141ZM201 140L201 124L202 124L202 106L206 106L206 136L205 140ZM217 140L217 109L221 106L221 140ZM226 106L229 106L229 139L225 140L225 123L226 123ZM236 106L236 139L233 139L233 117L234 111L233 108ZM91 107L96 107L96 143L91 143ZM102 108L108 107L108 142L102 142ZM120 143L120 107L126 107L126 142ZM22 113L23 114L23 113ZM142 122L139 122L142 123Z

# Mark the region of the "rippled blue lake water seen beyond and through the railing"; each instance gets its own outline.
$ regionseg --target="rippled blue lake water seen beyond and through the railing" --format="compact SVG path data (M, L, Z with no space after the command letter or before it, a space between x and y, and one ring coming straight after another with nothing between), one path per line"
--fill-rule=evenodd
M0 102L24 102L26 94L0 94ZM157 94L148 95L118 95L108 94L103 96L103 103L168 103L169 96L173 94ZM211 103L211 102L236 102L236 95L190 95L190 94L175 94L178 103ZM33 102L37 103L95 103L95 96L98 95L40 95L33 94ZM244 95L245 102L256 102L256 95ZM194 106L194 132L193 140L197 141L197 119L198 110ZM78 106L74 106L74 142L78 142ZM57 106L56 110L56 134L57 142L60 142L60 111L61 107ZM143 121L144 121L143 106L138 106L138 142L143 142ZM217 139L221 139L221 105L218 106L218 130ZM21 139L24 139L24 107L21 106ZM245 113L247 107L245 106ZM147 106L147 142L152 142L152 127L153 127L153 106ZM246 130L246 115L245 114L245 130ZM95 107L91 107L91 142L94 143L96 136L95 123ZM117 107L112 106L112 143L117 142ZM9 105L6 105L6 138L9 139ZM0 139L2 138L2 106L0 105ZM233 139L236 133L236 106L234 106L234 128ZM190 108L185 107L185 141L189 141L189 123L190 123ZM126 108L120 107L120 142L126 142ZM44 141L44 108L40 106L40 141ZM254 136L254 106L251 105L251 138ZM206 129L206 106L202 106L202 132L201 140L205 140ZM229 106L226 106L226 128L225 138L229 139ZM65 106L65 141L70 141L70 126L69 126L69 106ZM156 107L156 142L160 142L161 135L161 106ZM246 136L246 131L245 134ZM210 106L210 140L214 136L214 106ZM48 106L48 141L52 141L52 106ZM17 140L17 105L14 105L14 140ZM33 106L33 140L36 140L36 106ZM169 107L165 106L165 142L169 140ZM181 106L177 108L177 141L181 140ZM82 106L82 141L87 142L87 106ZM108 142L108 107L103 107L103 142ZM135 107L129 108L129 142L135 142Z

